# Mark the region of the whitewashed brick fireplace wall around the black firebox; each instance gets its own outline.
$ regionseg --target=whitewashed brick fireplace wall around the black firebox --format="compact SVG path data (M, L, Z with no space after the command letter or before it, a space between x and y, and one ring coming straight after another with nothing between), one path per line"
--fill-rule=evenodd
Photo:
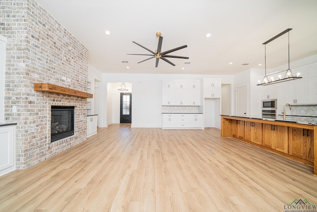
M87 100L33 84L86 91L88 50L35 0L1 0L0 34L7 37L4 119L17 123L16 167L24 169L86 140ZM52 144L51 105L75 106L75 135Z

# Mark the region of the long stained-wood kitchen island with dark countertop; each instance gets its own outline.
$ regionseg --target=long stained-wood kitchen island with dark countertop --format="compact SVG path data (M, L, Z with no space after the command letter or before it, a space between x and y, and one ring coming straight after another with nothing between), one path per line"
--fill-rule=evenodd
M245 141L314 166L317 175L316 118L221 115L221 137Z

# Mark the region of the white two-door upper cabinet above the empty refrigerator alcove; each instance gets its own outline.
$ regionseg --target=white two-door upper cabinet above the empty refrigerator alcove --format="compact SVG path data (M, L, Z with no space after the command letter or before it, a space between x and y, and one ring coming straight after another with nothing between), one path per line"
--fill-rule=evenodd
M221 79L204 78L204 98L221 98Z

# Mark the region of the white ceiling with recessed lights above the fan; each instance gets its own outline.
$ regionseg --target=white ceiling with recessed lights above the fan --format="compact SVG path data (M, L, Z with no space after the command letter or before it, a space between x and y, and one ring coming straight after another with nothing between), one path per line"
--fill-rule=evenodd
M317 0L36 1L88 48L89 63L102 72L234 74L264 68L262 43L287 28L293 28L291 62L317 54ZM175 67L160 60L155 68L155 59L137 64L149 56L127 55L149 54L132 41L155 51L156 32L162 51L187 45L170 55L189 59L170 58ZM267 69L288 62L287 43L284 34L266 45Z

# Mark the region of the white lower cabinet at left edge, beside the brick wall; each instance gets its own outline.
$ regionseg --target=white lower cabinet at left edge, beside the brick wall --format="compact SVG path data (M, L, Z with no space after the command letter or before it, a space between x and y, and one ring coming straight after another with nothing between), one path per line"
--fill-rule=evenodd
M0 126L0 176L15 170L15 125Z

